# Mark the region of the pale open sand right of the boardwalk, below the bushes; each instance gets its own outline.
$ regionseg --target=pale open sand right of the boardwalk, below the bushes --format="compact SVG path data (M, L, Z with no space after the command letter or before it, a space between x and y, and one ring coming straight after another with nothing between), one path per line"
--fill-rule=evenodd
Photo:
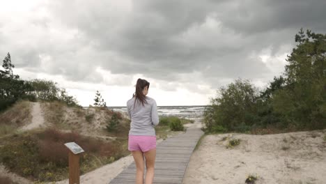
M278 135L207 135L194 151L185 184L244 183L257 174L256 183L315 183L326 181L326 131ZM226 148L228 139L240 145ZM232 138L233 137L233 138Z

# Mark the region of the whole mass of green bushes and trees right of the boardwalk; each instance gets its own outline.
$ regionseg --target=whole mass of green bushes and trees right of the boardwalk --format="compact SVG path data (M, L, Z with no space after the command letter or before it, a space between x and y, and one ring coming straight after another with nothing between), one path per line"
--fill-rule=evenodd
M268 134L326 128L326 35L300 30L284 74L259 91L248 79L222 86L205 109L205 132Z

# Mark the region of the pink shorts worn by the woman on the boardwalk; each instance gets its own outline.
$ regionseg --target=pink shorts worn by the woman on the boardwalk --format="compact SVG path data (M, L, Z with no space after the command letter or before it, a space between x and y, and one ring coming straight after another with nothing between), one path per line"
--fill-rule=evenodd
M156 148L155 135L129 135L128 150L146 152Z

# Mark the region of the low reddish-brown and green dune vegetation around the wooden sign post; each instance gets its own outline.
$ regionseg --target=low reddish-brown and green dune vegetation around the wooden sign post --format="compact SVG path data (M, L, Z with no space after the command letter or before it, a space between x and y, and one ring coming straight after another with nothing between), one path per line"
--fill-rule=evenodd
M81 174L129 154L121 139L106 141L49 128L1 139L0 160L10 171L33 181L59 181L68 178L68 149L63 144L70 141L85 151Z

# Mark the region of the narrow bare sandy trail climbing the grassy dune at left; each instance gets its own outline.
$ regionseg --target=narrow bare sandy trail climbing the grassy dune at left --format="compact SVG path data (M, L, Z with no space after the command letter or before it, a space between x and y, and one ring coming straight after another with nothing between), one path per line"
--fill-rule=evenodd
M28 125L24 125L21 130L31 130L34 128L39 128L40 126L44 125L44 117L42 116L42 109L40 108L39 102L33 102L32 107L32 121Z

